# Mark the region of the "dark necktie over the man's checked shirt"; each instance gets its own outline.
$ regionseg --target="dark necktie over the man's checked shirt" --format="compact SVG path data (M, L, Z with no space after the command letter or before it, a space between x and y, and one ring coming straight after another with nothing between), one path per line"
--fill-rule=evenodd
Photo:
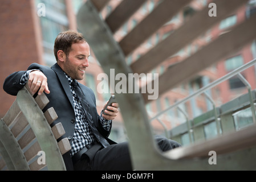
M82 90L79 88L78 84L76 84L75 80L72 81L71 86L73 86L73 88L74 88L76 94L78 95L78 98L79 98L79 100L80 100L80 102L83 106L84 112L86 113L87 121L88 121L88 123L91 127L91 130L92 130L92 133L94 133L97 140L99 140L99 142L104 147L109 146L108 141L99 133L99 131L96 129L96 127L94 125L94 121L92 121L91 110L90 110L90 107L87 103L86 96L84 96Z

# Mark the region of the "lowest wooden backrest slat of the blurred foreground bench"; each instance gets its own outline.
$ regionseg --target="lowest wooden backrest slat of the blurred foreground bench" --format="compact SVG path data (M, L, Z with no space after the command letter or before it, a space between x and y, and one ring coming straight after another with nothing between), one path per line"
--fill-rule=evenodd
M181 82L191 79L198 72L239 51L243 46L250 43L256 38L255 22L256 15L251 16L250 19L235 27L233 31L220 36L194 55L170 67L168 71L159 77L159 95L174 88ZM149 102L147 100L148 93L143 94L143 97L145 102Z

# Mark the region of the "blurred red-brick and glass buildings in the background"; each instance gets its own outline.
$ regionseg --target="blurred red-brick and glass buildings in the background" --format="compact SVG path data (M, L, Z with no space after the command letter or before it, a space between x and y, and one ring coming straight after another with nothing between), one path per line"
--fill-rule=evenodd
M55 64L56 60L53 52L54 40L59 32L69 29L77 30L76 14L78 13L79 7L83 5L84 2L86 2L86 0L2 0L0 6L1 85L3 85L3 81L8 75L15 71L26 70L31 63L36 62L49 67ZM102 18L106 18L120 2L121 0L109 1L108 5L101 11ZM115 39L117 41L121 40L136 24L151 13L160 2L160 0L146 1L136 14L127 20L120 30L115 32ZM142 46L138 47L134 52L131 52L127 58L127 64L131 64L133 61L139 59L141 55L149 51L149 49L165 39L168 35L172 34L173 31L182 26L184 22L193 16L196 11L208 6L210 2L212 1L192 1L190 5L184 7L182 11L162 26L160 30L151 36ZM243 22L243 20L255 13L255 11L256 1L249 1L246 6L230 14L226 19L206 32L205 35L194 40L194 42L184 49L181 49L176 55L169 57L159 67L153 69L152 73L159 73L159 75L161 75L166 69L172 67L173 64L184 60L212 40L218 38L218 36L225 34L225 32ZM86 77L82 83L94 90L97 100L97 109L100 111L110 97L110 93L100 94L97 92L97 84L101 81L97 79L97 76L103 71L94 56L93 50L91 50L91 53L90 67L87 69ZM147 104L146 108L149 117L153 117L159 111L175 104L177 101L182 100L182 98L189 96L196 90L208 85L210 82L217 80L217 78L226 75L254 58L256 58L256 42L255 40L251 40L250 44L241 48L235 55L226 57L216 65L200 72L193 80L178 85L176 88L162 94L157 100L153 100ZM255 67L251 67L242 72L242 75L249 81L252 89L256 88L255 69ZM246 92L246 86L237 77L232 77L228 81L222 82L220 85L209 90L208 96L213 98L214 103L219 106ZM2 103L0 106L0 117L3 117L15 100L15 97L6 94L1 88L0 100ZM186 117L194 118L212 108L212 103L204 95L200 95L185 102L178 108L169 110L162 115L160 119L168 129L172 129L184 123ZM163 127L160 125L159 121L152 121L152 126L156 134L163 133ZM117 142L127 139L121 112L113 121L111 138Z

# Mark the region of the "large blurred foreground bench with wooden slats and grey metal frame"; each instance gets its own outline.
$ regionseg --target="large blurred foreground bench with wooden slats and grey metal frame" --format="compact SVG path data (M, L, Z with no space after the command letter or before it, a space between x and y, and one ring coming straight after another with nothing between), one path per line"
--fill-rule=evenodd
M78 29L86 37L97 60L99 60L103 71L110 76L110 69L115 69L115 74L124 73L127 78L129 73L148 73L160 65L168 57L175 55L180 49L191 43L198 36L208 31L214 24L225 19L230 13L237 10L248 1L213 1L218 7L217 16L209 16L209 7L206 6L198 11L180 28L170 34L166 39L141 56L130 66L125 62L125 57L135 51L145 40L154 34L161 26L167 23L173 16L188 5L191 0L163 0L148 14L131 32L116 42L113 34L138 10L145 0L123 0L112 11L107 18L100 16L100 11L107 5L109 0L88 0L79 10ZM152 23L154 22L154 23ZM213 40L208 45L194 53L194 55L180 61L170 67L159 77L159 94L174 88L177 84L196 76L197 73L217 63L223 57L237 52L241 47L256 38L256 16L251 16L233 30ZM182 39L181 39L182 38ZM175 79L170 79L175 78ZM149 84L153 84L149 83ZM115 86L115 85L114 85ZM127 84L127 86L129 86ZM137 85L133 85L136 87ZM115 88L113 88L115 89ZM142 88L141 88L142 89ZM205 146L205 143L190 148L181 147L177 150L162 153L153 140L153 133L149 123L145 104L150 102L149 93L120 93L116 94L124 125L129 138L129 149L132 156L133 168L137 170L205 170L205 169L251 169L256 168L250 163L255 158L255 148L248 151L233 152L232 155L221 155L219 165L210 166L208 158L197 160L185 151L191 150L192 154L196 148L202 151L214 149L221 151L222 146L229 142L233 135L221 136ZM255 126L249 132L240 133L248 138L255 138ZM239 140L238 138L235 138ZM245 138L244 138L245 139ZM218 143L220 140L222 142ZM255 141L253 141L255 143ZM212 145L213 144L213 145ZM231 152L231 151L230 151ZM246 157L241 158L245 155ZM198 152L196 152L198 154ZM190 158L186 158L190 156ZM193 155L192 155L193 156ZM196 155L194 155L196 156ZM204 156L208 156L204 154ZM238 166L233 165L233 160ZM245 165L246 164L246 165Z

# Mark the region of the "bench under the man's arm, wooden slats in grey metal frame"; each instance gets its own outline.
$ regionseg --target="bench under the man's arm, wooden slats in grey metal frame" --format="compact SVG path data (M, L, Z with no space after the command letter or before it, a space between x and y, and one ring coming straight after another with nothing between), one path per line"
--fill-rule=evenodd
M24 86L0 123L1 170L66 170L62 155L71 150L62 123L52 128L58 118L53 107L42 109L49 100L43 93L35 98ZM44 160L45 159L45 160ZM45 161L45 163L44 163Z

